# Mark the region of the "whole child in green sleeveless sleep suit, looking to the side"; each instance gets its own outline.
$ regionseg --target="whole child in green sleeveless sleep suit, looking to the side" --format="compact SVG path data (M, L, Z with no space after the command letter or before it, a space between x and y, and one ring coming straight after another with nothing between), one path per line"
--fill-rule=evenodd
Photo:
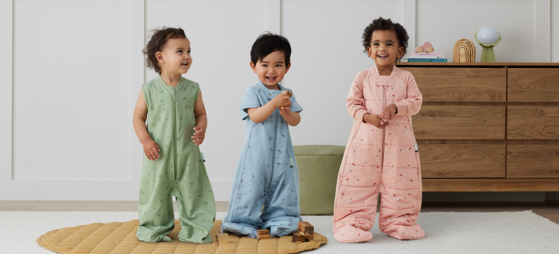
M179 240L210 243L216 207L198 148L205 137L206 111L198 83L181 76L192 65L190 41L181 28L163 27L153 30L143 52L147 66L159 75L141 86L134 111L134 129L144 146L137 238L171 240L167 234L174 228L175 196Z

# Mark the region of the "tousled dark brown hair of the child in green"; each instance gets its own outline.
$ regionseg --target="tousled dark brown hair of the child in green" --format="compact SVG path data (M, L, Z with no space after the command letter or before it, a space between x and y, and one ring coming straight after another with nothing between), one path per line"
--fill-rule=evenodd
M151 34L148 37L150 41L148 41L146 48L143 49L141 53L144 53L146 55L146 67L154 69L155 72L160 73L161 68L157 64L155 53L163 50L163 47L165 47L169 39L186 38L186 35L181 27L156 27L149 32Z

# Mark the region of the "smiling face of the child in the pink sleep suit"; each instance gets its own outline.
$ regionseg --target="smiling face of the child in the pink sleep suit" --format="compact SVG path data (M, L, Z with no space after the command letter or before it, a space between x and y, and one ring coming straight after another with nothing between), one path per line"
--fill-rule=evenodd
M396 58L404 54L404 47L400 47L396 32L376 30L371 37L371 46L367 47L369 57L373 58L377 67L393 67Z

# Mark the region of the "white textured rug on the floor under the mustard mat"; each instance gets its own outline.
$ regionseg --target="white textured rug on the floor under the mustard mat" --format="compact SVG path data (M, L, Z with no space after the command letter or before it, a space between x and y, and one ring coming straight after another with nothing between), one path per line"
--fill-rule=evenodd
M217 219L224 216L225 213L218 213ZM0 253L54 253L36 244L36 239L54 229L135 219L136 212L0 211ZM425 238L396 240L380 233L375 224L373 240L361 244L337 242L332 235L332 216L303 216L303 219L328 238L328 244L307 252L312 254L559 253L559 225L532 211L420 213L418 223L425 231Z

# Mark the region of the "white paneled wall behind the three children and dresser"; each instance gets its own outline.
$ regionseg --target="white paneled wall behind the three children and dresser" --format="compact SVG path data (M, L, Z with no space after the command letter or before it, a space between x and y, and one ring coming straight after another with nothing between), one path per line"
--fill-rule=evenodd
M378 16L452 56L483 25L501 32L501 62L559 61L559 0L0 0L0 200L137 200L142 149L132 126L141 84L155 77L148 30L181 26L192 45L185 78L201 84L201 150L216 200L229 200L244 142L239 105L258 82L250 49L265 30L293 48L284 85L304 111L295 145L345 145L345 97L374 62L361 34ZM10 50L12 49L12 50ZM477 60L481 47L477 46Z

